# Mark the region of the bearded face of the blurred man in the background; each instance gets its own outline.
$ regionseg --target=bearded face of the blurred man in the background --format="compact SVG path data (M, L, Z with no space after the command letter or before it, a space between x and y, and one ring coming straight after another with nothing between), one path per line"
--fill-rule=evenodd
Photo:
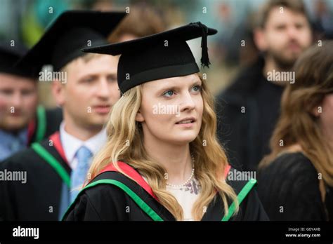
M311 27L302 13L288 8L273 8L262 30L261 48L267 51L276 65L289 68L303 50L311 46Z

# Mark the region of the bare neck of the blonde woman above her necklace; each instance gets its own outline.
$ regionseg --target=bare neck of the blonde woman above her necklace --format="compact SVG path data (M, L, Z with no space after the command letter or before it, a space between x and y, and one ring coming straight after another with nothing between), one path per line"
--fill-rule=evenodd
M192 158L189 144L173 145L164 142L144 141L148 155L162 165L169 184L183 184L192 173Z

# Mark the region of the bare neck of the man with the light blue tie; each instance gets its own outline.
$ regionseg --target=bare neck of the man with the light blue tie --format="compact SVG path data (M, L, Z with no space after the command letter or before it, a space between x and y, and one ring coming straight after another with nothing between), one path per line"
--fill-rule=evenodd
M66 115L66 113L64 113L64 122L65 122L65 128L64 128L65 131L81 141L89 140L91 137L97 135L100 132L100 130L103 129L103 126L97 126L91 128L89 128L89 126L86 127L81 126L75 123L74 119Z

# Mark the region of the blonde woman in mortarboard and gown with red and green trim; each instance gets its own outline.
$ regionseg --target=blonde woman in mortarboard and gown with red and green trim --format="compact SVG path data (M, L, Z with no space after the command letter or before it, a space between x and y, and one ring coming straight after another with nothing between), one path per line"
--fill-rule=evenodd
M235 177L216 140L216 115L187 40L201 22L141 39L85 48L119 55L122 97L112 107L108 141L89 170L92 180L65 213L89 220L267 220L255 179Z

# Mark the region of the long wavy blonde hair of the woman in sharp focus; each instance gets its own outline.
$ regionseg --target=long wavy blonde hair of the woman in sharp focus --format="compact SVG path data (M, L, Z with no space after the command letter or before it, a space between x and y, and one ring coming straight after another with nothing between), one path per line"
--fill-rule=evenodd
M226 184L224 177L228 160L225 151L216 139L216 114L213 97L207 91L207 85L201 76L200 79L202 80L201 93L204 102L202 127L197 138L190 142L190 150L195 157L195 177L200 182L202 189L192 208L192 216L195 220L202 219L209 203L213 201L216 191L223 200L226 215L228 214L228 201L237 203L235 191ZM110 162L119 169L117 161L124 161L148 179L148 184L159 199L159 203L169 210L177 220L181 220L183 219L181 205L172 194L166 191L166 180L164 179L166 170L162 165L153 161L143 147L143 129L136 121L136 114L141 107L141 96L142 88L136 86L124 93L112 107L107 123L107 144L94 158L89 175L91 178L96 177L98 172ZM202 144L204 140L207 142L205 147ZM119 169L119 171L121 170ZM237 210L238 207L235 213Z

